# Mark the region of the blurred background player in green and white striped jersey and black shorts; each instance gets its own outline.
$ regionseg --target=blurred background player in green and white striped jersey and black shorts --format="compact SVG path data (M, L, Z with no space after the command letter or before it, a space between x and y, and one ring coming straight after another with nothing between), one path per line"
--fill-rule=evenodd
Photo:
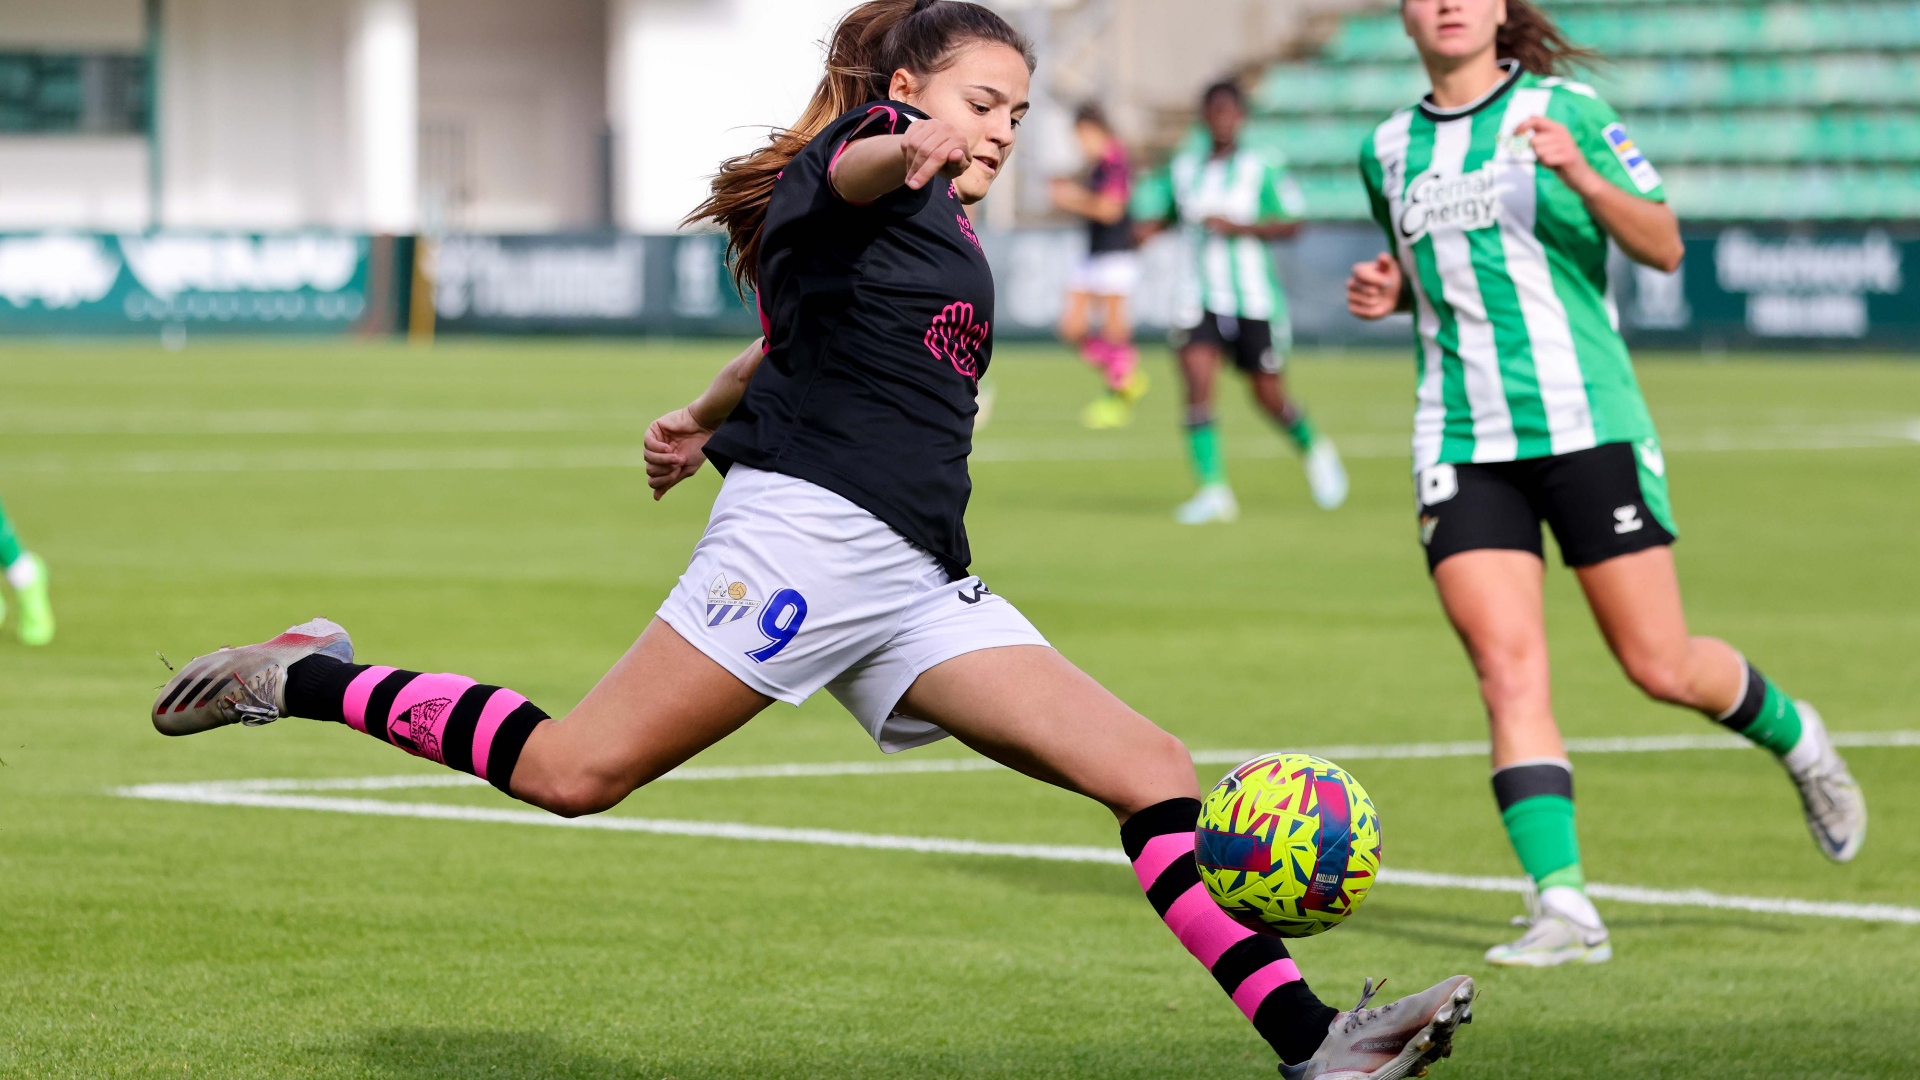
M1286 394L1286 354L1294 344L1286 292L1267 244L1300 233L1300 186L1279 154L1240 146L1246 94L1235 83L1210 86L1200 100L1210 140L1183 150L1140 188L1140 236L1185 225L1192 273L1175 307L1173 348L1187 379L1187 448L1200 490L1173 511L1183 525L1240 517L1227 484L1227 455L1213 427L1213 375L1221 356L1246 375L1254 400L1300 450L1313 502L1346 502L1346 467L1332 440Z

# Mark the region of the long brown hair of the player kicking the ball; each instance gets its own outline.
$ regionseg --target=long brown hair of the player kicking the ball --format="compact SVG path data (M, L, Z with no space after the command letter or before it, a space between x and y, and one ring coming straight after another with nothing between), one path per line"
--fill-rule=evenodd
M793 127L774 129L766 146L720 163L707 198L685 223L712 221L726 229L733 284L741 294L758 286L760 227L780 173L849 110L883 100L893 73L916 79L945 71L960 46L995 42L1020 50L1033 71L1033 46L979 4L962 0L868 0L833 27L828 40L828 73L814 88Z

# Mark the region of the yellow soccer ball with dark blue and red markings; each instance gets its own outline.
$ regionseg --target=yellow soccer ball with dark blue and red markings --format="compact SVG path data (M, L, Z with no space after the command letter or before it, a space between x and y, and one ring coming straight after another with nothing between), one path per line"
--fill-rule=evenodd
M1213 786L1194 857L1236 922L1277 938L1332 930L1380 872L1380 815L1359 780L1308 753L1267 753Z

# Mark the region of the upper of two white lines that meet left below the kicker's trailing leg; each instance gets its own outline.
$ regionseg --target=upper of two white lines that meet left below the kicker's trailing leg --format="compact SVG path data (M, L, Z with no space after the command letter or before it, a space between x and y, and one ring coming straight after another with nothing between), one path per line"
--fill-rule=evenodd
M1920 730L1895 732L1834 732L1834 746L1901 748L1920 746ZM1734 734L1674 734L1642 738L1569 738L1572 753L1665 753L1678 749L1751 749L1753 744ZM1315 746L1313 753L1329 761L1404 761L1427 757L1486 757L1484 742L1402 742L1359 746ZM1196 765L1238 765L1267 749L1198 749ZM995 773L1002 765L985 757L929 757L922 761L818 761L791 765L684 765L660 780L781 780L795 776L906 776L916 773ZM321 780L198 780L186 784L138 784L121 788L134 798L169 799L175 796L240 796L273 792L399 792L413 788L484 788L486 780L465 773L409 773L399 776L342 776Z

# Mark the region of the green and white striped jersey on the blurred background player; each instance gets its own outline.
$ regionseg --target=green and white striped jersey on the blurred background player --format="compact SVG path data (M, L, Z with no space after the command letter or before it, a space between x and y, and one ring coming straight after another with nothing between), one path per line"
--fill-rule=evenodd
M1177 217L1187 227L1192 273L1181 281L1173 306L1179 327L1198 327L1212 311L1235 319L1286 325L1286 292L1273 269L1273 252L1256 236L1219 236L1208 217L1235 225L1271 225L1306 215L1300 184L1277 152L1235 150L1213 158L1212 146L1181 150L1167 167L1140 184L1133 215L1140 221Z

